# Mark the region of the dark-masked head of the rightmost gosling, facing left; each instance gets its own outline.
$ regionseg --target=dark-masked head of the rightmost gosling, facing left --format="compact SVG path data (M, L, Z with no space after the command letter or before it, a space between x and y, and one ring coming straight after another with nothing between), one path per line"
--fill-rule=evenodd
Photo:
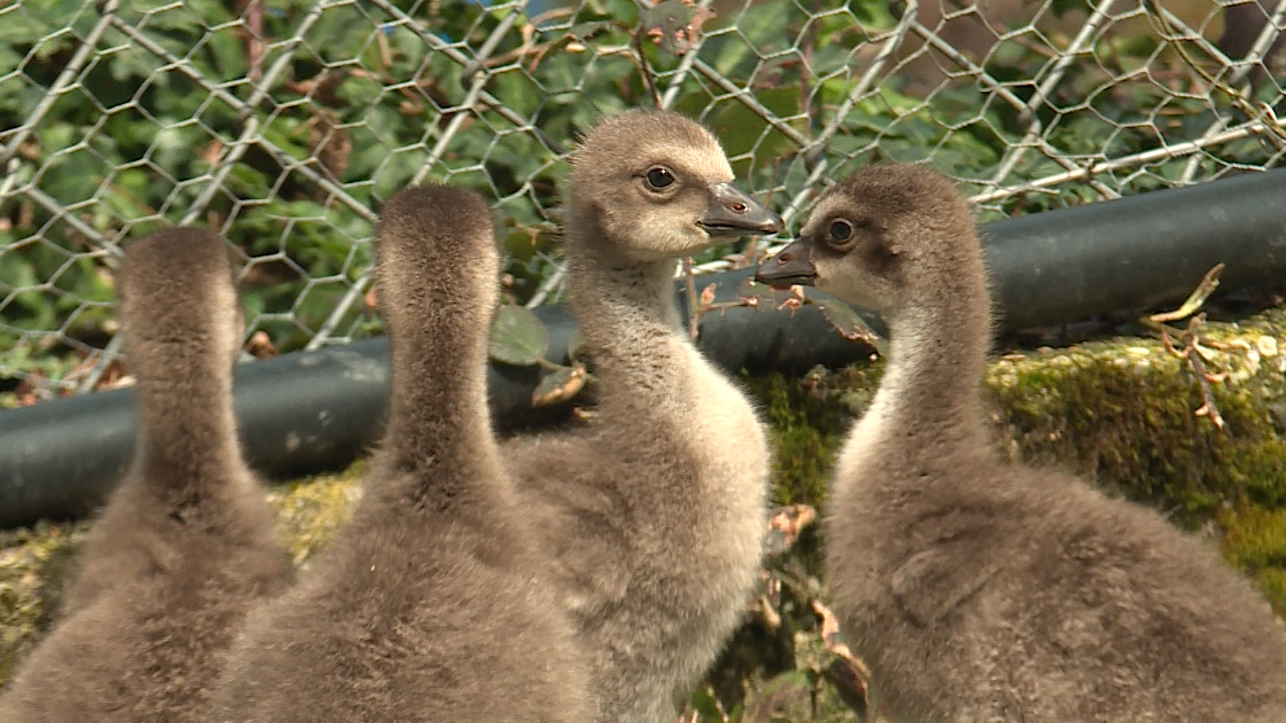
M815 286L896 313L952 293L962 274L983 274L963 197L932 169L889 163L862 169L822 196L796 241L764 261L755 278Z

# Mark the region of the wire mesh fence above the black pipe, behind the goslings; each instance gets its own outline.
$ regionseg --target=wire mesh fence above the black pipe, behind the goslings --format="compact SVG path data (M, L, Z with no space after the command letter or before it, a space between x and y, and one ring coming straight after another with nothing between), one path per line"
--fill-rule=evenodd
M18 403L111 382L120 243L171 224L239 250L258 346L376 332L376 215L430 178L495 199L507 293L556 301L566 153L633 105L714 126L788 228L881 158L927 158L986 219L1286 149L1286 0L0 3L0 391Z

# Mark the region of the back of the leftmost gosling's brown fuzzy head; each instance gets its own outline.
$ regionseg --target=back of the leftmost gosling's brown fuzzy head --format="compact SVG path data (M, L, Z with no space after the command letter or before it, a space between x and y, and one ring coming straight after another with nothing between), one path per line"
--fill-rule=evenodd
M233 282L233 257L219 234L175 228L126 246L117 274L130 355L147 368L208 368L240 355L246 318Z

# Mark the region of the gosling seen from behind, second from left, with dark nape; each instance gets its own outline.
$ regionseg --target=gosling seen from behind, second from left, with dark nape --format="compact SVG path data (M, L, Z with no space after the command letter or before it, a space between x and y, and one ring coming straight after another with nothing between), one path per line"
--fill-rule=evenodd
M392 343L383 449L354 520L252 616L212 719L592 720L580 654L491 434L490 211L473 192L406 189L376 244Z

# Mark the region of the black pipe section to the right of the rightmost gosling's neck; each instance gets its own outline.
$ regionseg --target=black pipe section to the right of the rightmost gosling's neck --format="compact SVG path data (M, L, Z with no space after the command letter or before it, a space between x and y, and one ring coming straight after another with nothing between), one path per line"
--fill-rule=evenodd
M1215 264L1226 289L1286 279L1286 169L984 226L1007 329L1182 300Z

